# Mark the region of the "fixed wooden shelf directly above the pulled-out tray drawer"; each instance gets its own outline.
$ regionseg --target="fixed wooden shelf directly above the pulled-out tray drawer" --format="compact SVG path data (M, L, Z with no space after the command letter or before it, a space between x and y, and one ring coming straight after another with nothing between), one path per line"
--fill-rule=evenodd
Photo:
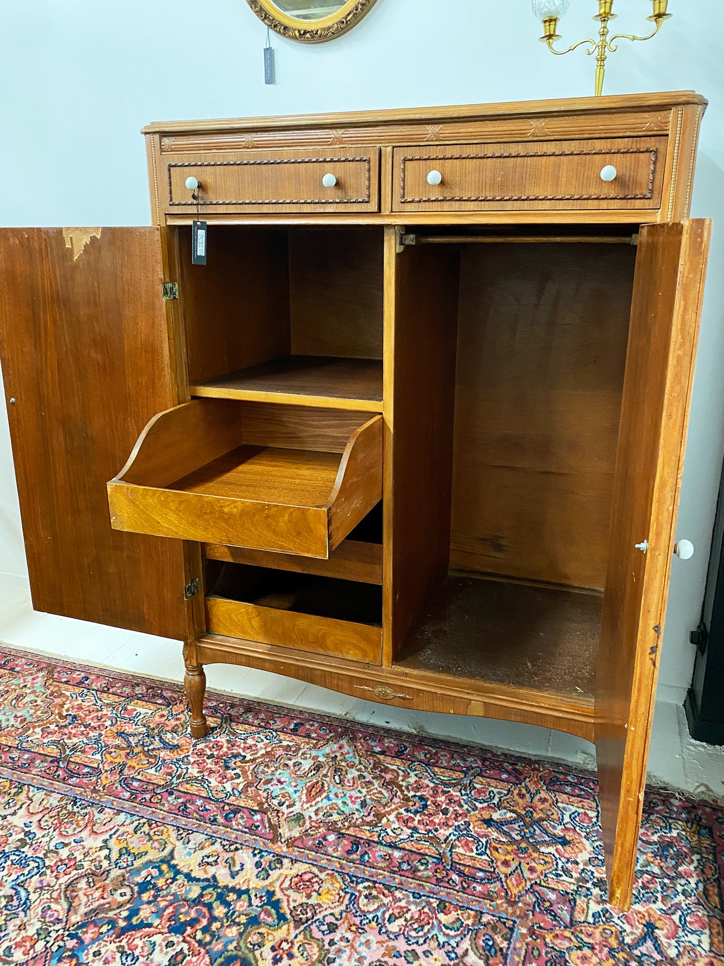
M382 412L380 359L284 355L190 385L192 396Z

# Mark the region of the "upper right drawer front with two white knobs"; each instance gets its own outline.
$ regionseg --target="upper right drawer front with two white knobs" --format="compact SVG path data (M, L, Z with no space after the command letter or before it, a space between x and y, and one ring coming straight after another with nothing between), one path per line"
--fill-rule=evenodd
M397 148L394 209L656 209L667 142L647 137ZM606 167L616 169L613 181L601 178ZM439 184L429 183L431 172L442 176Z

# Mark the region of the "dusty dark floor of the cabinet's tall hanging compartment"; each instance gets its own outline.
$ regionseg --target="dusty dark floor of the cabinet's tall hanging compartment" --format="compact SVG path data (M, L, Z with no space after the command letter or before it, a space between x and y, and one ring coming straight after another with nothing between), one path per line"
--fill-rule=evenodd
M602 595L451 577L396 667L593 698Z

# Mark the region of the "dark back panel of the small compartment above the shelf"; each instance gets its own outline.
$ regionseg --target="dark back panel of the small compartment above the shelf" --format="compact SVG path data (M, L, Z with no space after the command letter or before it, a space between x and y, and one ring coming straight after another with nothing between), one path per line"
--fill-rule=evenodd
M382 357L382 233L290 234L292 353Z

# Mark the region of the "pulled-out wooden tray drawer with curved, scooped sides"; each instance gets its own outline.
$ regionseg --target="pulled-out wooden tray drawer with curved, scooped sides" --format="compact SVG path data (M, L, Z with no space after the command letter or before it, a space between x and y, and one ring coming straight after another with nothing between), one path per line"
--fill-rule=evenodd
M111 526L328 557L382 496L382 417L195 399L154 416L108 483Z

